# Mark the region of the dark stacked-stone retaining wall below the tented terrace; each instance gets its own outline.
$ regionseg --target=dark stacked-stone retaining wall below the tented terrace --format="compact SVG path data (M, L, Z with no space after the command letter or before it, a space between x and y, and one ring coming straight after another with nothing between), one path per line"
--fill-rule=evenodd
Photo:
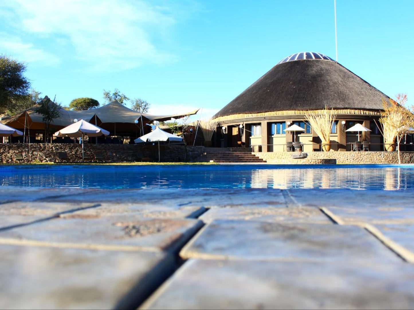
M187 161L204 153L204 146L187 146ZM161 162L184 162L184 145L160 145ZM67 158L63 158L63 157ZM29 162L142 162L158 161L158 145L134 144L0 144L1 163Z

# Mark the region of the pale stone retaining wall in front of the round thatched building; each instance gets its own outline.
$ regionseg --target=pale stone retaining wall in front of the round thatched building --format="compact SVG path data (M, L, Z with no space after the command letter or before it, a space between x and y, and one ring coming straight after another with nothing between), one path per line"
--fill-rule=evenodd
M307 152L305 159L291 158L293 152L253 153L270 164L312 164L336 160L337 164L398 164L397 152ZM402 164L414 163L414 152L400 152ZM324 162L325 163L325 162Z

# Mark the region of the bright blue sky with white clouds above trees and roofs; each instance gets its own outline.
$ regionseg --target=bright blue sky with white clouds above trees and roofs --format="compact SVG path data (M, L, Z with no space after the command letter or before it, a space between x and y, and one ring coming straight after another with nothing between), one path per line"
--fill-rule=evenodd
M338 62L414 96L414 1L337 0ZM63 105L118 88L150 113L219 111L295 52L335 59L334 1L0 2L0 53Z

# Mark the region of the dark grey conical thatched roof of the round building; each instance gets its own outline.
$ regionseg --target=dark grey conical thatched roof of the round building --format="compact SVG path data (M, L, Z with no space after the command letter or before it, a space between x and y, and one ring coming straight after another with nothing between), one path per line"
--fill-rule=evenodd
M284 60L213 118L283 110L319 110L325 105L334 109L378 111L383 109L381 98L388 98L329 57Z

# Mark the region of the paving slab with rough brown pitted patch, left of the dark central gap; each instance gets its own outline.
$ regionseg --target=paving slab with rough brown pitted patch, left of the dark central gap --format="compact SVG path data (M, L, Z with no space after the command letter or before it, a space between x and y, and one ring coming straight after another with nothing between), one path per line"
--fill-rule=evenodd
M0 231L0 243L23 240L31 241L30 244L62 243L75 248L91 245L103 249L175 251L201 226L202 222L196 219L150 219L134 215L94 218L72 214Z

